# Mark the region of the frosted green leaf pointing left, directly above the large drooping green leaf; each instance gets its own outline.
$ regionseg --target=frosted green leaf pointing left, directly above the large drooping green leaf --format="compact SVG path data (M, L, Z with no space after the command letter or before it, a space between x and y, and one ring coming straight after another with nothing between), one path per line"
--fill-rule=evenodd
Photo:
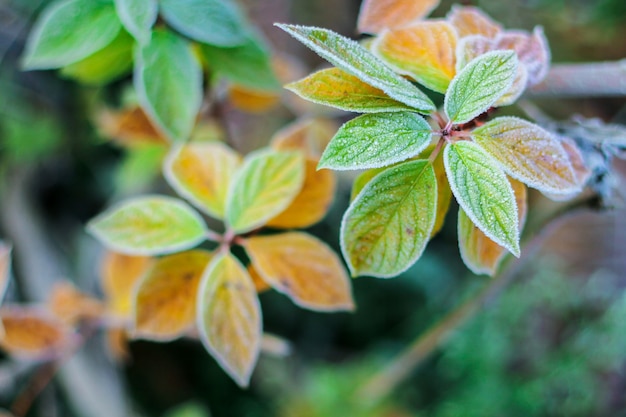
M366 114L345 123L322 154L318 168L380 168L416 156L432 138L416 113Z

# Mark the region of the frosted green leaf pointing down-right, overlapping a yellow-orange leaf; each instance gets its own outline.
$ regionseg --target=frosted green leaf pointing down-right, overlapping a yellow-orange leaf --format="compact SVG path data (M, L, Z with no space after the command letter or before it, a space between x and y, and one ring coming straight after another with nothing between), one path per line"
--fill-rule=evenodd
M467 216L489 239L519 257L515 194L498 162L480 145L460 141L446 146L444 165Z

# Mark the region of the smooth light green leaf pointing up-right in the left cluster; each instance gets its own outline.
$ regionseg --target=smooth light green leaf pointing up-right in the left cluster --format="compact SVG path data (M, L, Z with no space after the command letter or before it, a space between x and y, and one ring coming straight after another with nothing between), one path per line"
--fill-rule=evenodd
M298 195L304 171L300 152L265 149L248 155L228 189L227 224L238 234L263 226Z

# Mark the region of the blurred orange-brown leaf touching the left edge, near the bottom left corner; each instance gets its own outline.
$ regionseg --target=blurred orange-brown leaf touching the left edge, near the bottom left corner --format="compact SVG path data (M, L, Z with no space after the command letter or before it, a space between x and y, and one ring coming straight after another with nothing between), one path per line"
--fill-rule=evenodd
M34 307L4 307L0 309L4 336L0 347L10 355L48 360L67 352L76 335L49 312Z

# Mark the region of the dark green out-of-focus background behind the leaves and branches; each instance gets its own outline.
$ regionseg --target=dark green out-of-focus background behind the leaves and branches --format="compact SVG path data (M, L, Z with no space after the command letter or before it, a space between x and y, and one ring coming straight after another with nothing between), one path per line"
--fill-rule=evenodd
M48 4L0 0L0 238L14 245L8 299L45 299L56 280L100 294L102 247L84 231L111 201L171 193L158 151L136 152L106 139L102 103L124 100L130 78L85 87L56 71L22 72L30 27ZM542 25L553 62L626 56L624 0L484 0L507 28ZM452 2L433 13L444 16ZM249 19L272 50L303 76L322 60L274 28L274 22L326 27L355 37L359 0L244 0ZM280 51L280 54L278 54ZM626 124L626 98L529 97L543 116L573 115ZM250 110L250 109L248 109ZM524 114L519 108L508 110ZM285 92L281 103L244 111L226 103L223 117L242 152L305 112ZM610 205L568 216L544 230L541 244L511 269L511 283L453 332L408 380L378 404L357 391L416 337L491 278L462 264L451 208L443 231L419 262L396 279L353 281L354 314L313 313L276 293L261 295L264 328L291 345L287 356L262 355L249 389L233 383L193 340L132 342L128 362L93 339L37 397L29 416L333 417L333 416L626 416L626 211L619 176ZM340 178L334 205L311 233L338 250L339 223L353 177ZM553 204L531 195L532 219ZM38 368L3 357L0 407L8 408Z

